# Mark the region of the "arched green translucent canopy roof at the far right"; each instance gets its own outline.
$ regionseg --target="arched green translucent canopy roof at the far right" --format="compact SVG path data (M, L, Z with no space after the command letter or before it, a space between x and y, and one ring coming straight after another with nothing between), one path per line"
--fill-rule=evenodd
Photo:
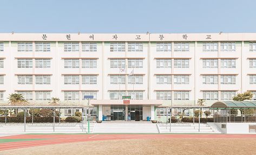
M256 101L218 101L210 109L255 109Z

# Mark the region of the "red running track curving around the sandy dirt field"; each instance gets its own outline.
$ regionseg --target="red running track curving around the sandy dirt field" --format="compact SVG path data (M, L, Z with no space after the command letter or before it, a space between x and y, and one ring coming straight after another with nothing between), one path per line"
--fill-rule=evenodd
M110 134L110 135L15 135L0 137L0 139L45 139L22 142L0 143L0 151L18 149L23 147L88 142L96 140L121 140L121 139L147 139L147 138L256 138L256 135L215 135L215 134Z

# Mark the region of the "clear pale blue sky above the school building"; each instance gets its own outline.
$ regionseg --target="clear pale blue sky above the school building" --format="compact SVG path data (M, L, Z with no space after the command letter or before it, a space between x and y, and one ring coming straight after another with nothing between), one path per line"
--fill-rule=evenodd
M0 0L0 32L256 32L255 0Z

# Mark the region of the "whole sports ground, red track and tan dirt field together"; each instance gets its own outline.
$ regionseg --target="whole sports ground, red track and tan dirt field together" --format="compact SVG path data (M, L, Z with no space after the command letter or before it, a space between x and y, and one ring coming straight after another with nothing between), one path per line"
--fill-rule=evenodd
M0 154L255 154L256 135L27 134L0 137Z

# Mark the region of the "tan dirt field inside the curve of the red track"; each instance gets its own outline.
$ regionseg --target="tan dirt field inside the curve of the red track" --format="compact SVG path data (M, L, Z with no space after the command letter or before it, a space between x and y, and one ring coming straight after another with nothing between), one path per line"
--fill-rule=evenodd
M25 154L256 154L256 138L157 138L103 140L0 151Z

